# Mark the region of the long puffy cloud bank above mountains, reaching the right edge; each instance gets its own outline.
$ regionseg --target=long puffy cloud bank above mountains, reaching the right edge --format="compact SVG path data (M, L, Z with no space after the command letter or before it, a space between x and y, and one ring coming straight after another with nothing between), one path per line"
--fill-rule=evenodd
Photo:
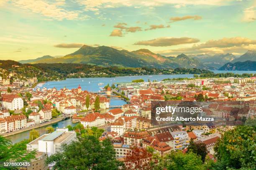
M192 47L178 48L158 51L162 55L173 54L200 54L200 53L244 53L247 50L256 50L256 40L245 37L222 38L220 40L208 40L205 43L193 45Z

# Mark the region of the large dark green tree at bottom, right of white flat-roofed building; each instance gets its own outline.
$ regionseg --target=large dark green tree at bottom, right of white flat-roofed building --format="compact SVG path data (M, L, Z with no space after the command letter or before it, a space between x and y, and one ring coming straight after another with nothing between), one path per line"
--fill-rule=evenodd
M116 160L111 141L100 142L94 136L62 145L62 152L51 155L46 163L55 163L53 169L65 170L118 170L123 165Z

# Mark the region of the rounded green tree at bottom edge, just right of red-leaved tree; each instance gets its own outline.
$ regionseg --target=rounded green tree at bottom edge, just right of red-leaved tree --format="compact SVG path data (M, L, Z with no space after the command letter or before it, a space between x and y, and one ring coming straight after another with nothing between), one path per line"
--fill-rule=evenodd
M195 153L182 153L182 151L172 151L166 155L167 170L204 170L200 156Z

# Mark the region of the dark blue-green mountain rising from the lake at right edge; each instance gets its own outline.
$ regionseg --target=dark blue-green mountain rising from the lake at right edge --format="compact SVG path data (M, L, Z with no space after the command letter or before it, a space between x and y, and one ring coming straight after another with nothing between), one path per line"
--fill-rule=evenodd
M228 62L219 70L244 70L244 71L256 71L256 61L245 61L245 62Z

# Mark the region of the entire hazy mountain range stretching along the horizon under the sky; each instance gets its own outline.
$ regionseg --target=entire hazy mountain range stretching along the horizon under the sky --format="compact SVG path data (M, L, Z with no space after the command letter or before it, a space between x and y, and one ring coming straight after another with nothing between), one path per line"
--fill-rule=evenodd
M177 57L165 57L155 54L147 49L129 52L117 50L112 47L98 46L90 47L83 45L79 50L65 55L64 57L51 57L49 55L34 60L20 60L21 63L83 63L99 66L118 67L156 67L156 68L200 68L218 70L228 62L233 61L256 61L256 52L248 51L241 57L233 54L221 55L196 55L187 56L180 54Z

